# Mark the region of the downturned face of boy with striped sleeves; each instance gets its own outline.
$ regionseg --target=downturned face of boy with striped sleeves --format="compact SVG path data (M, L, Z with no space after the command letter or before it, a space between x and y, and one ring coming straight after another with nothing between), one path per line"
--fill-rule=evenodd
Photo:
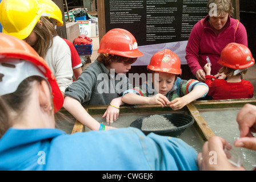
M158 74L158 76L156 74ZM175 77L176 76L171 73L155 72L152 77L154 89L163 95L167 94L173 88Z

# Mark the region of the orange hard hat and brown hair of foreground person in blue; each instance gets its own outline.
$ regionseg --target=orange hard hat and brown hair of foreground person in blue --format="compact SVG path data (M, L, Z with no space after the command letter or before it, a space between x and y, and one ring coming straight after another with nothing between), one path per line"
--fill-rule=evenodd
M45 60L29 44L0 33L0 63L0 137L13 121L23 117L31 88L42 80L49 83L54 113L61 109L63 96L57 81Z

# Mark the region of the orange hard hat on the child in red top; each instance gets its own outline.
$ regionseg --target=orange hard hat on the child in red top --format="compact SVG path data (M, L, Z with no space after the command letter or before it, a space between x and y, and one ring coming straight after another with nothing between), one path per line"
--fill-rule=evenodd
M250 49L245 45L229 43L222 49L221 60L218 63L228 68L244 69L251 67L255 60Z

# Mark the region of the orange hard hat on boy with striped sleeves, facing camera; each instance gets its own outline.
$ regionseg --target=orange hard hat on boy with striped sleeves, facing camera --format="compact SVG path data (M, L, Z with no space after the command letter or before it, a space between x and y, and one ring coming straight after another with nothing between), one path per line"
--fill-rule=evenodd
M179 57L169 49L164 49L155 53L147 65L147 69L157 72L181 74L181 61Z

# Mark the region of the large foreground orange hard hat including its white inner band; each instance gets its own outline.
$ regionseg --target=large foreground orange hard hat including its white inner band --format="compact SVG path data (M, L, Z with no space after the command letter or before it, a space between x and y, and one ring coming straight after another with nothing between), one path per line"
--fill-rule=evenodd
M0 81L0 95L15 92L26 77L38 75L45 78L51 86L54 112L61 109L64 98L57 81L46 61L29 44L14 36L0 33L0 63L17 65L15 69L8 71L7 68L0 67L0 73L3 75Z

